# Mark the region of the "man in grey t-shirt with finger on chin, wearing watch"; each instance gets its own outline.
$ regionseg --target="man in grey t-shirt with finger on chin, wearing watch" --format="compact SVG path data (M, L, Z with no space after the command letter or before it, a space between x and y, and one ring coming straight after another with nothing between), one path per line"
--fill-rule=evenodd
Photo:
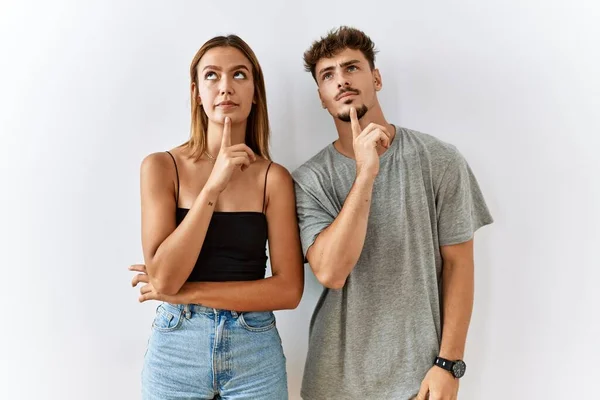
M456 399L473 236L492 217L455 147L387 122L375 53L341 27L304 54L339 138L293 173L304 255L325 286L302 397Z

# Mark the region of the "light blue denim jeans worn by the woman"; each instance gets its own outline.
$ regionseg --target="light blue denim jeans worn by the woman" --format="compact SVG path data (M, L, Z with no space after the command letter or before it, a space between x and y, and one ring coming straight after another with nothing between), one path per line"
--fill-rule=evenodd
M272 312L162 303L142 370L144 400L287 400Z

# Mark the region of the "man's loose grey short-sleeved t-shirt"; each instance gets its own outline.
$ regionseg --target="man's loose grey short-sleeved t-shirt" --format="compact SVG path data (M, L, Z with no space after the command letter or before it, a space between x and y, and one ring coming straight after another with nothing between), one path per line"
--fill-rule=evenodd
M330 144L293 177L306 256L341 211L356 164ZM342 289L323 291L312 316L302 398L414 397L440 347L440 246L491 222L456 148L397 128L380 157L358 263Z

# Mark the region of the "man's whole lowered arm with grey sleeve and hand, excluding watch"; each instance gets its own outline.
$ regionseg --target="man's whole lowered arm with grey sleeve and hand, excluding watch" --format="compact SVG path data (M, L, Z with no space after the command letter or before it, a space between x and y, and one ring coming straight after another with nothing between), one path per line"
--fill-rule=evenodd
M463 359L473 310L473 236L493 219L465 159L456 150L448 156L436 196L443 264L439 355L454 361ZM432 366L421 383L417 399L455 399L458 387L459 380L450 372Z

